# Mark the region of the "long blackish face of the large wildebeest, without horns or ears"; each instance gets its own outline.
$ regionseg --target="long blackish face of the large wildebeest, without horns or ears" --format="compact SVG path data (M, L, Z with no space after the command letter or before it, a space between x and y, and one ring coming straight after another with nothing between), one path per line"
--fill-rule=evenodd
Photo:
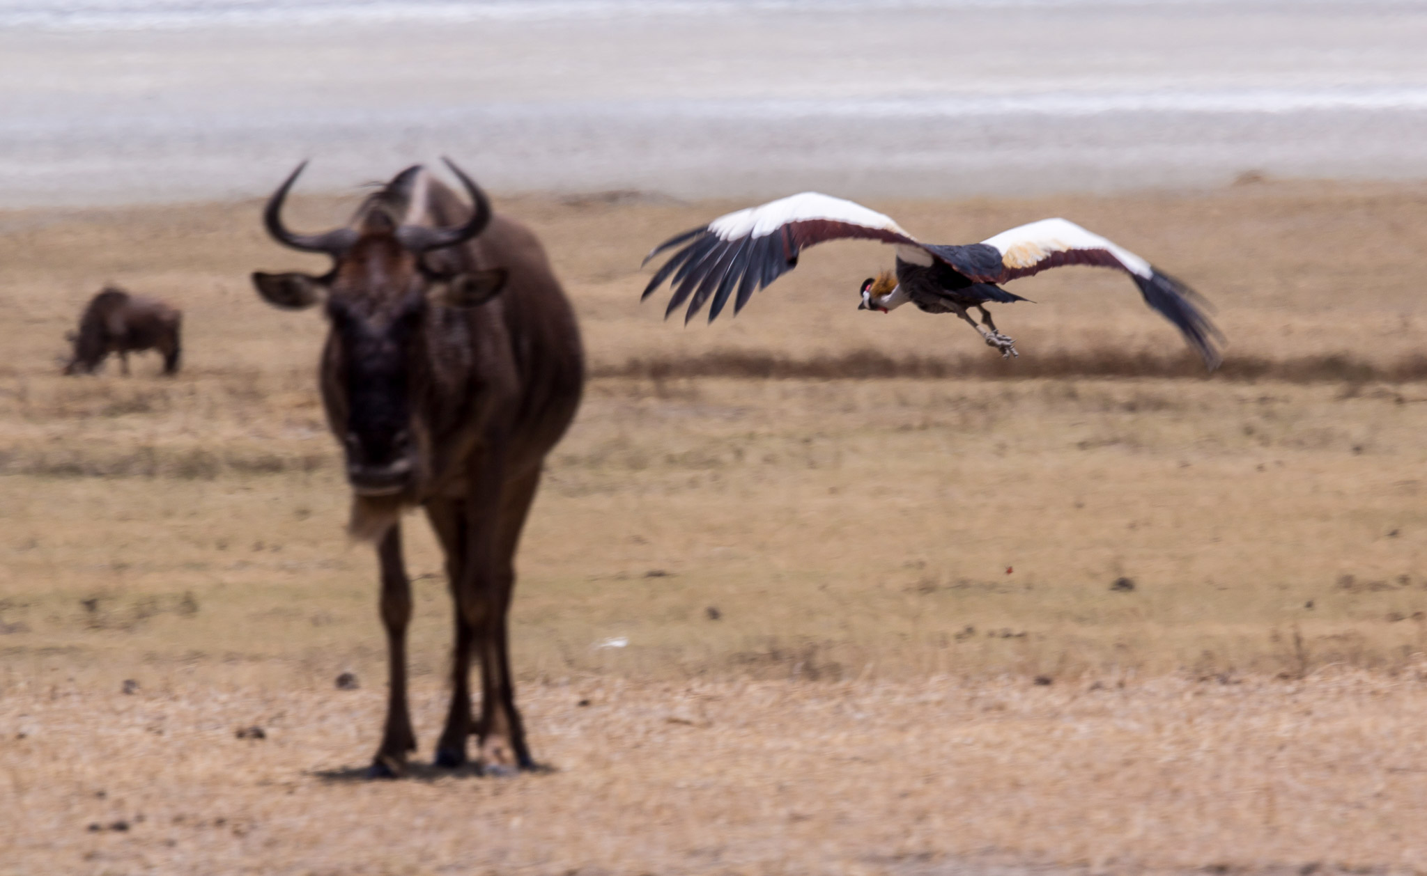
M401 504L415 499L421 474L420 445L412 434L411 392L415 389L417 330L425 315L425 295L408 295L388 320L382 320L384 314L375 318L360 315L340 297L331 298L327 310L340 351L340 385L345 394L342 445L347 481L358 505L394 514ZM354 506L354 529L358 528L357 516Z

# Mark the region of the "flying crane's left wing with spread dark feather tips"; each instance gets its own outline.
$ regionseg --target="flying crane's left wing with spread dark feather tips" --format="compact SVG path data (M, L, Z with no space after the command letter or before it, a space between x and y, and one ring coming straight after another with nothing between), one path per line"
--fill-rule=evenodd
M641 301L668 280L674 297L664 311L665 317L688 301L689 310L684 317L688 322L712 298L709 304L709 322L712 322L735 288L736 314L756 290L796 267L798 254L805 248L846 238L880 240L888 244L925 248L895 221L875 210L816 191L805 191L762 207L721 215L702 228L676 234L655 247L645 257L645 263L671 247L682 245L655 271L649 285L644 287Z

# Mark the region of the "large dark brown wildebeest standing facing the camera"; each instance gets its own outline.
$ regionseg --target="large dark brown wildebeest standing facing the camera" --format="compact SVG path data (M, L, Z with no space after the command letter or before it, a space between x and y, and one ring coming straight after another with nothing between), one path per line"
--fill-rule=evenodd
M472 207L410 167L371 194L350 227L295 234L281 210L301 164L268 200L281 244L332 257L332 270L253 274L270 304L325 301L331 321L318 381L327 422L345 452L351 531L377 542L381 618L391 659L387 725L372 776L401 773L415 733L407 712L405 641L411 585L400 514L421 505L445 552L455 602L451 711L438 766L531 769L515 709L507 612L515 546L545 454L579 404L584 354L575 314L535 235L495 215L455 164ZM472 651L481 718L471 713Z

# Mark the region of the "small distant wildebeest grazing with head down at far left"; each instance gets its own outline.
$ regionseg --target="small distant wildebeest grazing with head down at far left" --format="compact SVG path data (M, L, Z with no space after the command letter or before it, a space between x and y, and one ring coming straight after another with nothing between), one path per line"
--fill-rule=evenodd
M66 340L74 347L64 374L91 374L111 352L128 375L128 354L157 350L164 357L164 374L178 371L178 327L183 311L143 295L108 285L90 298L80 317L80 330Z

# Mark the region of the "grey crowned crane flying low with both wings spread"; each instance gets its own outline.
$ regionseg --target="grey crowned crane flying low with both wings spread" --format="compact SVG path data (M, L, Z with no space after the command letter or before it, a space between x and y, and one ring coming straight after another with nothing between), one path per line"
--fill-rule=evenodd
M688 301L685 322L705 304L712 322L729 298L733 298L735 314L743 310L753 291L796 267L798 254L805 248L853 238L896 247L895 278L882 273L865 280L858 310L885 314L912 302L929 314L956 314L1002 357L1012 357L1019 355L1015 341L996 330L986 304L1025 298L996 284L1066 264L1116 268L1130 275L1144 302L1183 332L1210 370L1220 362L1223 335L1209 320L1197 292L1075 223L1047 218L1002 231L979 244L925 244L880 213L815 191L729 213L664 241L645 257L645 264L672 247L682 248L655 271L641 300L668 280L674 297L665 317ZM970 317L970 308L980 312L986 328Z

